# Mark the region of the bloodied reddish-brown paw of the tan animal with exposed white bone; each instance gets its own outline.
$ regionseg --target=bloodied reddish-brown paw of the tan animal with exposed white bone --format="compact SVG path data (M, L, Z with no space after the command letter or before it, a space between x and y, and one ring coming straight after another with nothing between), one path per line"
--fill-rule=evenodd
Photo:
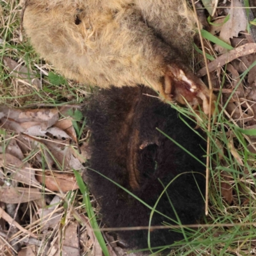
M210 91L202 82L191 72L185 74L176 65L168 65L168 70L164 76L164 98L175 100L180 104L190 104L194 109L198 106L203 109L206 115L214 112L214 95L210 106Z

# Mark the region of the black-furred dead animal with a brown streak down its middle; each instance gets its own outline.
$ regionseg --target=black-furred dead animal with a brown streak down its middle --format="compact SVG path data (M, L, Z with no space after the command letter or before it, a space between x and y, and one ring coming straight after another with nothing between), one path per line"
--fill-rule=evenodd
M108 227L148 227L151 209L93 170L128 189L150 207L161 196L156 210L168 218L154 212L151 226L163 225L163 221L177 224L177 216L182 224L196 223L204 212L205 141L198 135L200 131L196 134L175 109L156 99L156 95L143 86L102 90L86 113L92 129L92 159L86 179ZM195 127L191 120L182 118ZM179 241L184 238L179 231L151 231L150 245ZM120 231L118 236L127 248L148 248L148 230Z

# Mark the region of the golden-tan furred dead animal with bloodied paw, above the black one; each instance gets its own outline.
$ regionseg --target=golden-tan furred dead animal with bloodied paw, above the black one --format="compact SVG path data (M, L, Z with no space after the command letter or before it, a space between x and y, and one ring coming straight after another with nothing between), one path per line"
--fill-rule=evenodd
M27 0L24 11L31 44L63 76L102 88L145 84L208 113L209 90L188 64L193 21L180 0Z

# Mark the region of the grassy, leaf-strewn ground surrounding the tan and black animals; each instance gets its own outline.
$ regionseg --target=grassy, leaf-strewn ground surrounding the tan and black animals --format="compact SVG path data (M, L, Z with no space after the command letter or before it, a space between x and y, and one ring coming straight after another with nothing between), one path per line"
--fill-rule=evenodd
M219 3L209 20L209 32L202 31L209 81L217 98L209 125L203 113L196 117L209 138L208 214L195 225L192 239L177 243L180 246L170 255L256 253L256 44L253 22L247 22L248 13L236 2ZM18 251L18 255L60 255L61 250L67 255L101 255L104 241L99 232L93 235L95 221L88 221L97 204L88 193L82 198L77 183L87 190L73 172L83 170L90 158L90 132L81 109L92 90L67 81L39 58L20 27L21 13L19 1L1 1L0 251L2 255ZM245 31L249 28L251 35ZM203 57L195 54L195 70L209 84L204 64L200 69L199 63ZM113 239L105 234L104 238ZM118 252L124 253L121 248Z

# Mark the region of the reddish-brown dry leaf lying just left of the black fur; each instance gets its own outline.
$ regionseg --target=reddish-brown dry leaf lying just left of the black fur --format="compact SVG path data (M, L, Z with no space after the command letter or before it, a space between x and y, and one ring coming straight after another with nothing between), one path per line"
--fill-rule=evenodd
M36 172L36 179L41 184L44 182L45 187L51 191L62 191L63 193L78 189L75 175L72 173L52 173L50 171ZM53 177L52 177L53 175Z

